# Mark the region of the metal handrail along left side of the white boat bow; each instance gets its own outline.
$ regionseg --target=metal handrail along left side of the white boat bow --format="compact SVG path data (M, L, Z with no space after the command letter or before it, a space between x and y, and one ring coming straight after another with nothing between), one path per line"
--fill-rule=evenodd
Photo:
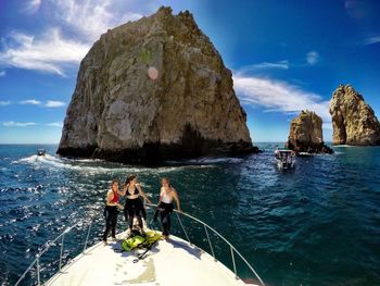
M92 225L93 220L91 219L90 223L89 223L89 231L87 233L87 238L86 238L86 243L85 243L85 247L83 250L83 253L85 252L85 250L87 249L87 241L88 241L88 236L91 229L91 225ZM59 264L59 271L61 271L61 266L62 266L62 254L63 254L63 243L64 243L64 236L65 234L69 233L74 227L77 227L79 225L81 225L83 222L76 223L75 225L72 225L69 227L67 227L65 231L63 231L58 237L55 237L53 240L48 241L46 244L46 247L40 250L37 254L36 254L36 259L30 263L30 265L25 270L25 272L23 273L23 275L18 278L18 281L15 283L15 286L17 286L24 278L25 275L33 269L33 266L36 264L37 265L37 285L40 286L41 282L40 282L40 258L41 256L47 252L49 250L49 248L51 246L53 246L61 237L62 237L62 243L61 243L61 251L60 251L60 264Z

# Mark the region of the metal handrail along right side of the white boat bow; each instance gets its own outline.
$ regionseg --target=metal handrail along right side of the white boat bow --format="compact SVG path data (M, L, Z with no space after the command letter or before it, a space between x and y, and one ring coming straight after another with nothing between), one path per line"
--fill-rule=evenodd
M152 204L152 203L145 203L145 206L152 207L152 208L156 207L156 204ZM185 212L181 212L181 211L178 211L178 210L174 210L174 211L175 211L176 214L177 214L179 224L180 224L180 226L182 227L182 231L183 231L183 233L185 233L185 235L186 235L186 237L187 237L189 244L191 244L191 241L190 241L190 239L189 239L189 236L188 236L188 234L187 234L187 232L186 232L186 229L185 229L185 227L183 227L183 224L182 224L182 222L181 222L181 220L180 220L178 213L179 213L179 214L182 214L182 215L185 215L185 216L187 216L187 217L189 217L189 219L191 219L191 220L193 220L193 221L195 221L195 222L198 222L198 223L200 223L200 224L202 224L202 225L204 226L205 232L206 232L207 241L208 241L208 244L210 244L210 247L211 247L212 254L213 254L214 259L216 259L216 258L215 258L214 250L213 250L213 248L212 248L212 244L211 244L211 240L210 240L208 233L207 233L206 228L208 228L208 229L212 231L214 234L216 234L218 237L220 237L220 238L230 247L230 249L231 249L232 264L233 264L233 271L235 271L235 275L236 275L237 277L238 277L238 275L237 275L237 269L236 269L236 262L235 262L233 251L241 258L241 260L246 264L246 266L248 266L248 268L252 271L252 273L257 277L257 279L259 281L259 283L261 283L263 286L265 286L263 279L258 276L257 272L253 269L253 266L246 261L246 259L245 259L245 258L244 258L244 257L243 257L243 256L242 256L242 254L241 254L241 253L240 253L240 252L239 252L224 236L223 236L223 235L220 235L217 231L215 231L215 229L214 229L213 227L211 227L208 224L202 222L201 220L199 220L199 219L197 219L197 217L194 217L194 216L192 216L192 215L190 215L190 214L188 214L188 213L185 213Z

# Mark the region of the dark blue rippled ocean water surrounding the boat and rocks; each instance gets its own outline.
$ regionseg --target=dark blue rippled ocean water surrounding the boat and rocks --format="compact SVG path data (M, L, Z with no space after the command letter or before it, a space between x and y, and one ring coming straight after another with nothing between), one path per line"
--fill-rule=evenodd
M38 147L45 158L35 156ZM295 170L281 171L274 144L259 147L263 153L246 158L143 167L61 159L56 146L1 145L0 285L13 285L38 250L76 222L94 220L90 244L101 239L110 182L130 173L153 201L160 178L169 177L183 211L231 241L267 285L380 285L380 148L335 147L333 156L297 158ZM183 223L208 250L203 228ZM173 233L182 236L176 222ZM78 228L65 237L64 261L85 236ZM218 259L232 268L229 248L212 238ZM41 258L42 279L56 271L58 252L52 247ZM237 266L252 278L241 261ZM35 285L35 275L23 285Z

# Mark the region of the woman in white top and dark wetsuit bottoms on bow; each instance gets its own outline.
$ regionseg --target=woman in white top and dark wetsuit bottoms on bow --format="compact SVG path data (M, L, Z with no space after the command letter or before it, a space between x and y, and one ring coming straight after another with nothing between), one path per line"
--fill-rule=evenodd
M170 181L167 177L163 177L161 179L161 190L160 190L160 200L157 203L157 210L154 214L154 221L156 221L157 215L160 214L161 225L162 225L162 234L165 239L169 236L170 231L170 215L173 212L173 199L176 201L177 210L181 212L179 204L179 197L177 191L170 185Z

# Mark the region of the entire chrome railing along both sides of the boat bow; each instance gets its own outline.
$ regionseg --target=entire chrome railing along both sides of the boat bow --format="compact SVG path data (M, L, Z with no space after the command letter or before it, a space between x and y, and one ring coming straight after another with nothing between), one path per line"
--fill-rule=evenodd
M151 208L155 208L155 204L151 204L151 203L147 203L148 207L151 207ZM180 219L180 215L183 215L186 217L189 217L190 220L194 221L194 222L198 222L200 223L201 225L203 225L203 228L204 228L204 232L205 232L205 237L207 239L207 243L208 243L208 246L210 246L210 249L211 249L211 253L214 258L215 261L217 261L217 258L216 258L216 254L214 252L214 247L213 247L213 241L212 239L210 238L210 234L208 234L208 231L211 231L212 233L214 233L216 236L218 236L223 241L225 241L229 248L230 248L230 252L231 252L231 260L232 260L232 265L233 265L233 272L235 272L235 275L237 278L239 278L238 276L238 271L237 271L237 265L236 265L236 259L235 259L235 253L238 254L241 260L245 263L245 265L251 270L251 272L254 274L254 276L259 281L259 283L265 286L264 282L262 281L262 278L258 276L257 272L253 269L253 266L246 261L246 259L223 236L220 235L217 231L215 231L213 227L211 227L208 224L202 222L201 220L190 215L190 214L187 214L185 212L178 212L177 210L174 210L175 213L176 213L176 217L180 224L180 227L185 234L185 237L186 239L188 240L188 243L190 245L193 245L191 241L190 241L190 237L188 235L188 232L186 231L185 226L183 226L183 223ZM87 245L88 245L88 239L89 239L89 236L90 236L90 232L91 232L91 226L92 226L92 223L93 223L93 220L90 221L90 223L88 224L88 231L87 231L87 236L86 236L86 240L85 240L85 244L84 244L84 248L83 248L83 251L81 253L85 253L86 249L87 249ZM148 223L148 222L147 222ZM41 271L41 268L40 268L40 258L41 256L47 252L49 250L49 248L51 246L55 246L55 243L59 241L61 239L61 249L60 249L60 259L59 259L59 272L61 272L61 269L62 269L62 258L63 258L63 249L64 249L64 238L65 238L65 235L68 234L73 228L76 228L80 225L83 225L84 223L77 223L73 226L69 226L68 228L66 228L62 234L60 234L55 239L51 240L51 241L48 241L46 244L46 247L40 250L37 254L36 254L36 259L30 263L30 265L27 268L27 270L23 273L23 275L18 278L18 281L15 283L15 286L17 286L26 276L26 274L33 270L33 268L36 265L36 272L37 272L37 285L40 286L41 285L41 279L40 279L40 271ZM151 225L150 225L151 226ZM198 246L197 246L198 247ZM198 247L199 248L199 247ZM201 248L200 248L201 249ZM202 249L203 251L205 251L204 249ZM207 251L205 251L207 252Z

